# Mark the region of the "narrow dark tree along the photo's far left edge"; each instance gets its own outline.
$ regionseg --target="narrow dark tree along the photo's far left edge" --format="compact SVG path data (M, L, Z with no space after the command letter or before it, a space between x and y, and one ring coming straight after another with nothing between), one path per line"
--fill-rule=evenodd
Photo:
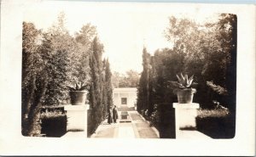
M44 101L47 81L45 63L38 54L38 38L41 31L32 23L23 22L22 32L22 134L33 136L38 134L38 111Z

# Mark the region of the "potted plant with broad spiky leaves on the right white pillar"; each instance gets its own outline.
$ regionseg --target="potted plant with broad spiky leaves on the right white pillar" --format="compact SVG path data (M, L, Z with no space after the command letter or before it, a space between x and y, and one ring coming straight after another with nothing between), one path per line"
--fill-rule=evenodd
M177 75L176 75L177 76ZM179 104L191 104L193 102L194 93L196 89L194 88L197 83L193 82L193 76L188 75L177 76L178 81L169 81L174 87L173 92L177 94L177 102Z

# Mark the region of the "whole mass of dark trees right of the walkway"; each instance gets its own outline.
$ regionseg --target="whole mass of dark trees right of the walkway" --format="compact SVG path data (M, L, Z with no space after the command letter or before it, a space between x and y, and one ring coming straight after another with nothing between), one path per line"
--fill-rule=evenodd
M169 19L166 38L172 48L150 55L143 49L143 72L137 93L137 110L155 116L154 105L177 102L168 81L177 81L181 72L194 75L197 93L194 102L212 109L216 102L236 111L236 15L220 14L218 21L198 24L189 19ZM155 118L155 117L154 117Z

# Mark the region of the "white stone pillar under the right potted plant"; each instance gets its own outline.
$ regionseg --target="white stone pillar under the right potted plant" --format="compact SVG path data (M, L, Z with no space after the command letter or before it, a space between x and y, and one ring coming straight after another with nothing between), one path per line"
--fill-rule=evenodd
M199 107L200 105L197 103L173 103L173 108L175 108L176 138L178 137L180 130L196 129L195 117L197 116L197 109L199 109Z

